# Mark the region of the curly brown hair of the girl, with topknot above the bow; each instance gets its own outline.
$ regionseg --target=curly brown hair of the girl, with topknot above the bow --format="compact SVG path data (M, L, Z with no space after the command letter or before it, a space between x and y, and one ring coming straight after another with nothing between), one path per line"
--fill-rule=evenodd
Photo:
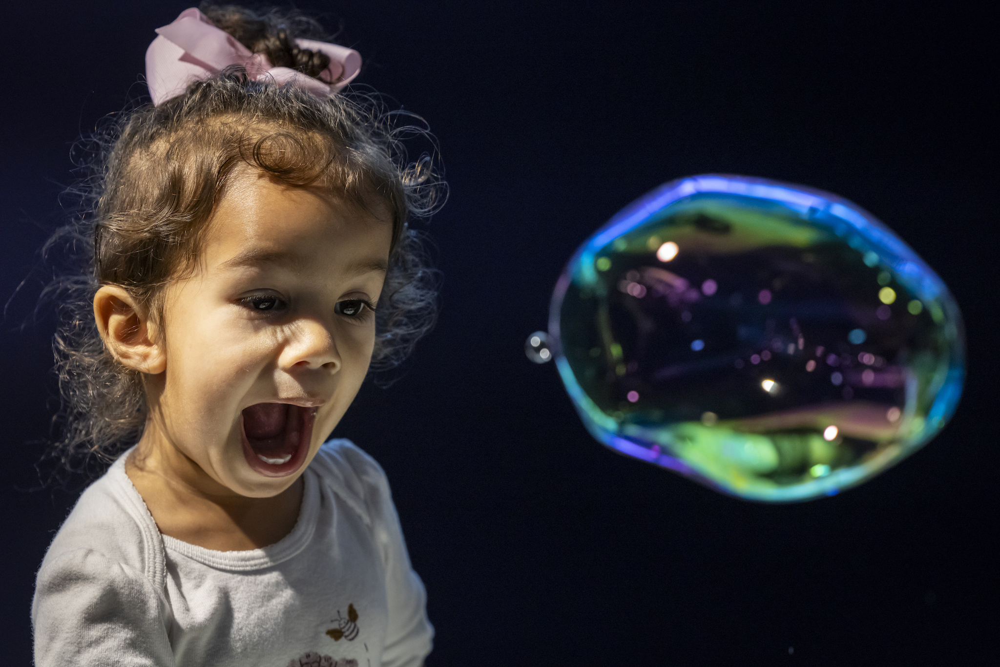
M301 14L207 4L201 10L272 62L311 76L328 64L322 54L291 46L296 38L324 38ZM393 240L372 369L402 361L433 325L438 287L422 237L407 220L433 213L447 190L434 158L410 162L401 142L415 133L433 138L423 125L400 119L419 120L387 112L370 94L319 99L295 86L252 81L233 67L160 106L140 105L88 138L98 150L78 188L82 215L49 241L80 260L77 273L46 290L62 315L54 340L61 436L52 454L71 470L92 471L95 459L102 468L141 435L141 374L105 349L94 294L118 285L162 321L163 288L195 269L205 223L240 165L293 187L325 188L365 212L388 211Z

